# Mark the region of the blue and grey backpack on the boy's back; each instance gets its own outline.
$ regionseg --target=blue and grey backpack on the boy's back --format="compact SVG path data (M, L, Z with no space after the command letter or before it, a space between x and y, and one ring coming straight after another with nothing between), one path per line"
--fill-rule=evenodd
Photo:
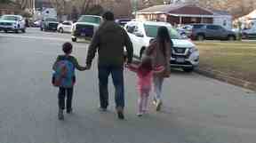
M54 65L52 84L56 87L71 88L75 84L75 66L68 60L60 60Z

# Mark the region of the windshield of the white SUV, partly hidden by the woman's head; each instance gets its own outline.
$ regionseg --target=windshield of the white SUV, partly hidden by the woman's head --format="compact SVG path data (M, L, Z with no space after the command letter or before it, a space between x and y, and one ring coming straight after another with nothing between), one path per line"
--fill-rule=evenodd
M161 26L156 26L156 25L144 25L145 31L146 31L146 35L149 37L156 37L157 36L157 30L158 28L160 28ZM171 36L172 39L181 39L180 34L171 27L166 27L169 30L169 34Z

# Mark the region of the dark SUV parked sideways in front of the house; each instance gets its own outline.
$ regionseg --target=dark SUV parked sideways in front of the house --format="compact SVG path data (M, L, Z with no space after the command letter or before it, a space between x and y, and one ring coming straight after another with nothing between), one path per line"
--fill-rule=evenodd
M203 41L207 40L236 40L236 33L219 25L212 24L194 24L192 25L191 34L192 40Z

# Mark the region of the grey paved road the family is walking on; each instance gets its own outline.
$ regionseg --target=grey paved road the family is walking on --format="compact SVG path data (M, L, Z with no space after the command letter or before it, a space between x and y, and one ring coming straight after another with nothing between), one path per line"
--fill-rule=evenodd
M73 115L57 120L51 66L70 36L28 29L0 33L0 143L256 143L256 94L196 74L173 71L164 110L136 114L136 77L125 71L126 120L98 107L97 70L77 72ZM87 44L74 44L84 64ZM109 86L113 95L113 86ZM113 99L113 96L111 96Z

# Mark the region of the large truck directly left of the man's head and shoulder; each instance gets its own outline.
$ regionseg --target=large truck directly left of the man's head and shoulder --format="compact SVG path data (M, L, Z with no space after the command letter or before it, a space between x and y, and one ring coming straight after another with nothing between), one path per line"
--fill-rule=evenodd
M71 39L76 42L77 38L92 38L94 32L100 27L102 18L96 15L82 15L72 25Z

